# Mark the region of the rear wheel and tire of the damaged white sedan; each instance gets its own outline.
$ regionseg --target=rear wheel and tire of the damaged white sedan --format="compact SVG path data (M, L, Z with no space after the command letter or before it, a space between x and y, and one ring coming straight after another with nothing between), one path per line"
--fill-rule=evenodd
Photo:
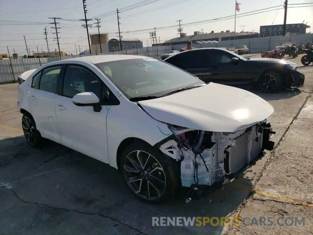
M43 138L36 128L33 117L29 113L24 113L23 115L22 128L28 144L33 148L41 147Z

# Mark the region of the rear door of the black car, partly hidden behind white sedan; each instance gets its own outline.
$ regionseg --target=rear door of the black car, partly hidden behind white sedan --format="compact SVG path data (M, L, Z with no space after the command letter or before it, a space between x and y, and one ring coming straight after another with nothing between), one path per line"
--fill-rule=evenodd
M210 81L210 69L208 67L205 51L206 50L189 50L173 55L167 59L166 62L183 69L208 83Z

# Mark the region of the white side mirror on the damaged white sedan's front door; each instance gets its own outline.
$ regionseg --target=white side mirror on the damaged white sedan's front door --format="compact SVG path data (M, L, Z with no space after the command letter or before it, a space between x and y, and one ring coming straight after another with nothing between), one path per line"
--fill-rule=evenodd
M92 106L95 112L101 111L101 105L99 103L99 98L93 92L83 92L76 94L72 101L74 105L77 106Z

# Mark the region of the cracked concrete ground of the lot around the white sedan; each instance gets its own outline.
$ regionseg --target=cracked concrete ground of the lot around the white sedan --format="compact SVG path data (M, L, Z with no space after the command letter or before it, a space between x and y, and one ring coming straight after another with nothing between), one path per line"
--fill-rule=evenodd
M299 64L300 58L295 60ZM275 108L269 118L277 133L273 140L279 142L275 151L205 198L186 204L181 192L176 200L158 206L137 201L121 175L95 159L54 143L30 148L21 136L21 114L14 111L17 84L0 86L0 234L310 234L313 66L299 70L306 76L303 91L257 93ZM151 223L153 216L237 213L305 217L305 226L153 227Z

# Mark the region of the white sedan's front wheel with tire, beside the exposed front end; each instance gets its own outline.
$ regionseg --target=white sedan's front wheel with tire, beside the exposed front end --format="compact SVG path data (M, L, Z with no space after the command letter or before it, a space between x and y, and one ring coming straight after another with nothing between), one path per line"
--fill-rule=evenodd
M172 159L145 142L129 145L121 156L126 184L140 200L156 204L174 196L178 174Z

